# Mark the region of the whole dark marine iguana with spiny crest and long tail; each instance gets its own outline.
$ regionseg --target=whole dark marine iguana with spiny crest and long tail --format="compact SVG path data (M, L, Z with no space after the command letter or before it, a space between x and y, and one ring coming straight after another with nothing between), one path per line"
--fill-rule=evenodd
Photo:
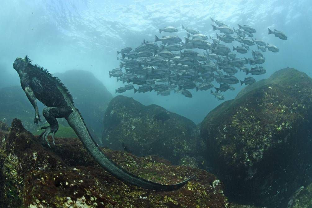
M44 129L44 131L41 133L40 137L42 137L42 139L44 138L49 147L50 144L47 137L50 133L52 133L53 144L55 145L54 135L58 130L56 118L65 118L95 161L121 181L145 189L173 191L184 186L194 177L177 184L163 185L137 177L120 168L115 162L108 158L94 142L85 125L84 119L74 105L71 94L61 80L54 77L47 69L37 64L32 65L31 62L28 56L25 56L24 59L17 58L13 63L13 68L17 71L22 88L35 109L34 123L38 124L38 121L41 121L36 99L47 106L47 108L43 109L42 114L50 126L41 128Z

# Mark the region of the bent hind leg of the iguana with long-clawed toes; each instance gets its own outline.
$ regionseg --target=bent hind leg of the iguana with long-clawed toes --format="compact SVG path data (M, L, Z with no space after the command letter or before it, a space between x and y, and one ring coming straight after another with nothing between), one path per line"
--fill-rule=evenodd
M42 127L42 129L45 129L40 135L46 143L49 145L51 148L49 142L48 142L48 135L52 133L52 139L53 139L53 144L55 145L54 142L54 135L58 130L58 122L56 118L66 118L72 113L72 109L70 107L65 107L65 108L56 108L56 107L50 107L50 108L44 108L42 111L42 115L46 119L46 121L50 124L50 126Z

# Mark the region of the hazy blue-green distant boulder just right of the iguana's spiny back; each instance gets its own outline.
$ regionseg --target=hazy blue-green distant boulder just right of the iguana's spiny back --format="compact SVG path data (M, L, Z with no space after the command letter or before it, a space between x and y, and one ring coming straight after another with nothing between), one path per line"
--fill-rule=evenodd
M90 71L68 70L55 76L67 87L92 136L96 136L97 143L100 142L98 138L103 132L103 117L112 94Z

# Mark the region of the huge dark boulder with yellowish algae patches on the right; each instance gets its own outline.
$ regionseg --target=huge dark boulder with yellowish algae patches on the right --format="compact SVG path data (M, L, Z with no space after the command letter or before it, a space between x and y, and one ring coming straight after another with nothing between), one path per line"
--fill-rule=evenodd
M240 202L286 207L311 182L312 79L286 68L243 89L201 123L213 173Z

